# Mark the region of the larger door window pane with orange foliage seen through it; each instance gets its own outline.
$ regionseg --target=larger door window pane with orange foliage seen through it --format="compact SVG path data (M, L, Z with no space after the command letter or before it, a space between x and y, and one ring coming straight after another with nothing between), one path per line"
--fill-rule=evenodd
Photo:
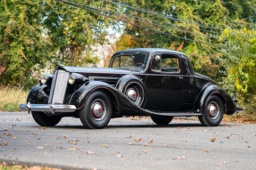
M161 71L178 72L178 57L175 55L161 55Z

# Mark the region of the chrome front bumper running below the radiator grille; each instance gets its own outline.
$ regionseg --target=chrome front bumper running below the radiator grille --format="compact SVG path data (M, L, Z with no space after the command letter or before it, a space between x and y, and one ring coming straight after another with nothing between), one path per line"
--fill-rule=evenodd
M54 104L21 104L21 111L48 111L53 114L56 112L74 112L76 111L76 106L74 105L54 105Z

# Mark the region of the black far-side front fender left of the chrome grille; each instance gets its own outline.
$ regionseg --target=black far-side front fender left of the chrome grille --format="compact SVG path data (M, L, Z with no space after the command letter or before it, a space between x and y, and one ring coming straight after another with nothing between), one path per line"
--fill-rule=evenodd
M49 96L45 93L48 86L43 84L35 85L29 92L27 103L31 104L47 104Z

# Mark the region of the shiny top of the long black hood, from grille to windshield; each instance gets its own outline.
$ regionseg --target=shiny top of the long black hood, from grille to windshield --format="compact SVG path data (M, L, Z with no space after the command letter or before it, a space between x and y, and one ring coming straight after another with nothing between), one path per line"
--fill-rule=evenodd
M85 73L85 74L114 74L114 75L128 75L130 70L126 69L112 69L112 68L83 68L83 67L70 67L62 66L58 69L65 69L68 72L74 73ZM139 70L134 70L133 72L139 72Z

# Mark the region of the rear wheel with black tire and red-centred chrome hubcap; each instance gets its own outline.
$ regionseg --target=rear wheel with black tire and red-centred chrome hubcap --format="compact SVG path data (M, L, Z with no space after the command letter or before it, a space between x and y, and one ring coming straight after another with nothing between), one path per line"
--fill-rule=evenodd
M198 118L204 126L217 126L223 118L224 111L224 104L219 97L211 95L205 103L203 115Z

